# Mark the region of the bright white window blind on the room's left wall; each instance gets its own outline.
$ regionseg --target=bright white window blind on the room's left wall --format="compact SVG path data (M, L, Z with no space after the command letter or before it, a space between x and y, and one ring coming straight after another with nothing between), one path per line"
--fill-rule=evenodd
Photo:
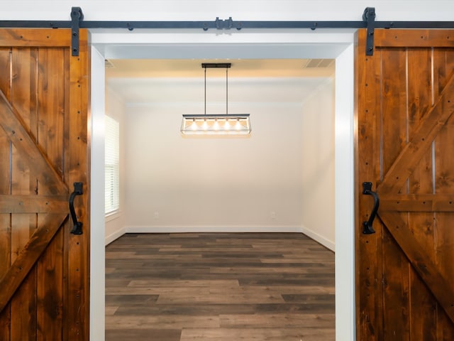
M108 116L106 116L105 119L105 214L109 215L120 208L120 129L118 121Z

